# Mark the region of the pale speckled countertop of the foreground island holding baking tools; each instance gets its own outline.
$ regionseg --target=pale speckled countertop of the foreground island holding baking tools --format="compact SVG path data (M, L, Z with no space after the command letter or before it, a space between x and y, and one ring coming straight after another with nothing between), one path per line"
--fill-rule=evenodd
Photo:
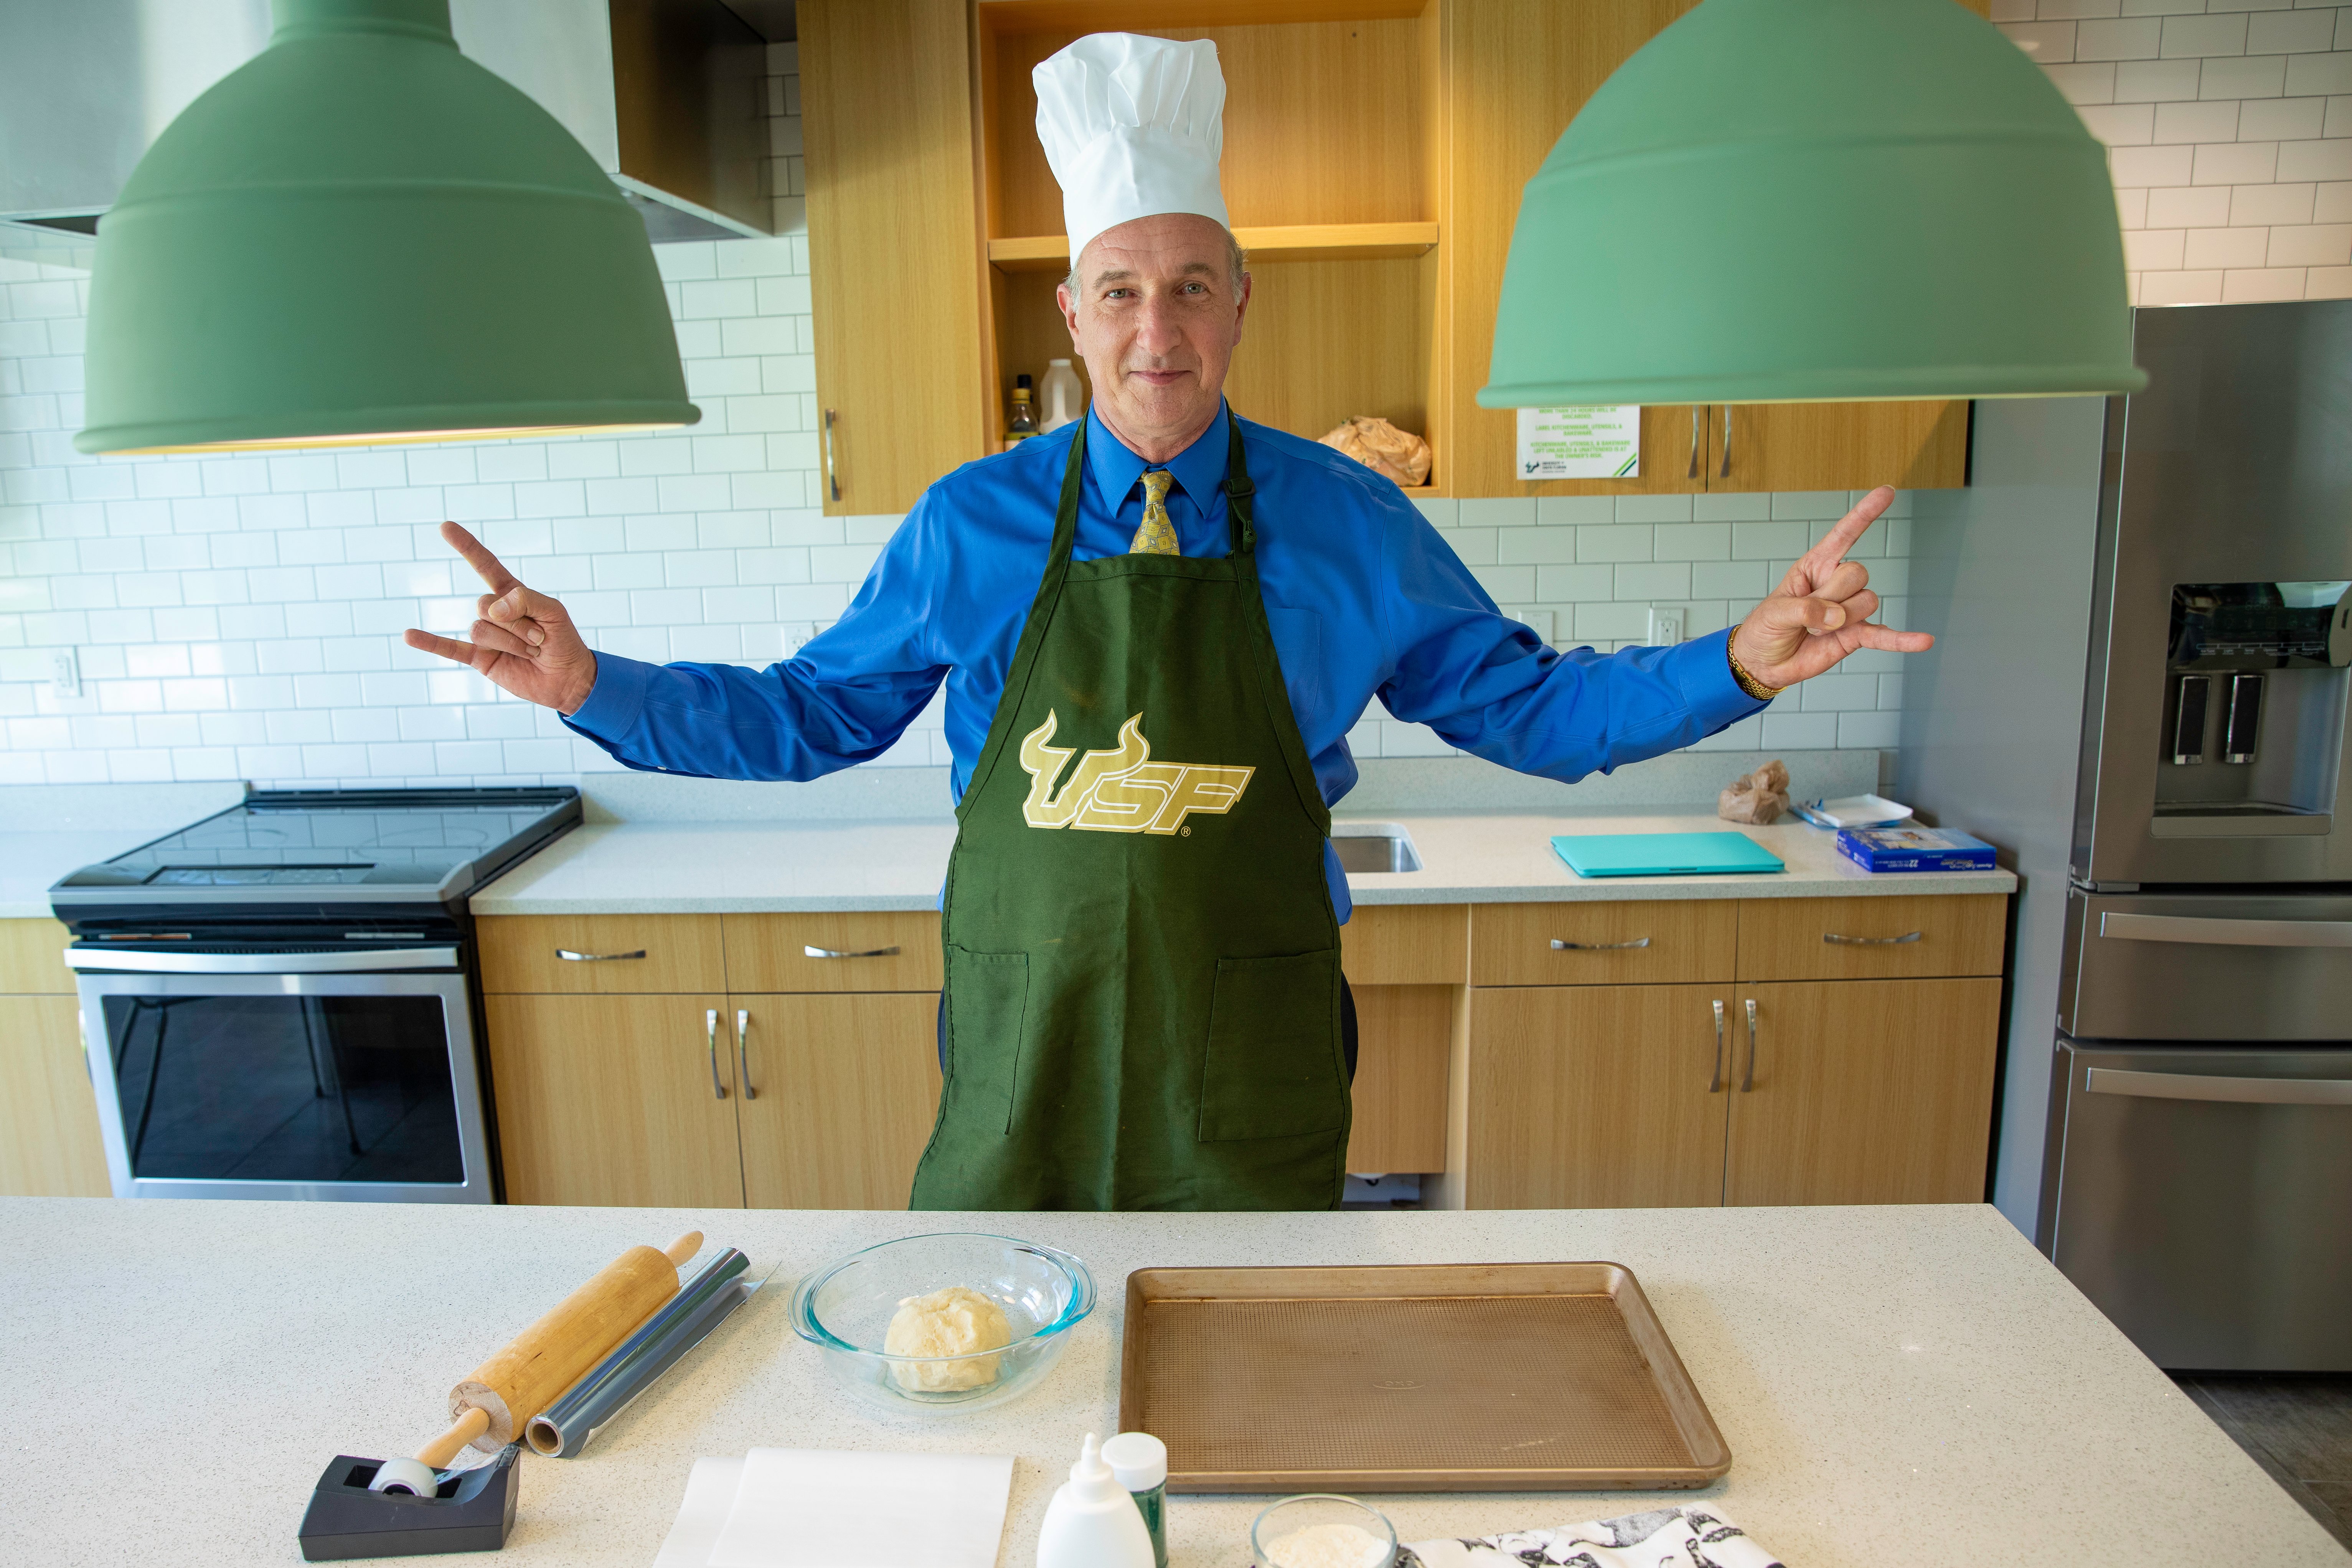
M790 1281L971 1227L1084 1258L1101 1307L1044 1385L957 1420L851 1406L786 1328ZM1148 1265L1616 1260L1731 1443L1703 1493L1376 1497L1404 1540L1715 1500L1799 1568L2343 1563L2343 1552L1992 1208L903 1215L0 1199L19 1479L0 1556L294 1563L336 1453L409 1450L452 1382L635 1241L781 1265L579 1460L524 1458L501 1563L644 1568L696 1455L1014 1453L1028 1568L1084 1432L1110 1432ZM1171 1561L1240 1568L1263 1500L1171 1497ZM2223 1544L2225 1542L2225 1544Z

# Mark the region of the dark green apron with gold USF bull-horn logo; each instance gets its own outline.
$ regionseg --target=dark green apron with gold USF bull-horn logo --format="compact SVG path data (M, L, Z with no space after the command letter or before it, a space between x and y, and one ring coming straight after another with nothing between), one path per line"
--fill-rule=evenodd
M1087 428L941 940L946 1093L915 1208L1338 1208L1331 813L1258 597L1242 430L1223 559L1073 562Z

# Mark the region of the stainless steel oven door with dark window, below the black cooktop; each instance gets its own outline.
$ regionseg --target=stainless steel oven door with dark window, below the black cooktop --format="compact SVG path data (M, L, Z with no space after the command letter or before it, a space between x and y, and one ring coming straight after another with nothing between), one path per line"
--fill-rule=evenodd
M66 961L115 1197L494 1199L454 945Z

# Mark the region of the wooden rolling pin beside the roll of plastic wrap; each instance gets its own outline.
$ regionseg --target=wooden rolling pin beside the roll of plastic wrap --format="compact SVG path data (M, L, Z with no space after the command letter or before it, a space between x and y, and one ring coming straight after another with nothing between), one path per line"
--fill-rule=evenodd
M513 1443L527 1420L677 1295L677 1269L701 1248L703 1232L694 1229L663 1251L633 1246L607 1262L595 1279L555 1302L543 1319L449 1389L454 1425L426 1453L442 1443L449 1455L466 1443L499 1453ZM452 1443L452 1436L459 1441ZM423 1453L416 1458L423 1460Z

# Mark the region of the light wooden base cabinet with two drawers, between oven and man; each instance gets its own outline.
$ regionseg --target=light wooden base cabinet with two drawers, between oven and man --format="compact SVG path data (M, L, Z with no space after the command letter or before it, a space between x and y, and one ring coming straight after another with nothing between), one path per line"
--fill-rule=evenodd
M510 1204L906 1206L938 1110L938 914L501 914L477 933Z

